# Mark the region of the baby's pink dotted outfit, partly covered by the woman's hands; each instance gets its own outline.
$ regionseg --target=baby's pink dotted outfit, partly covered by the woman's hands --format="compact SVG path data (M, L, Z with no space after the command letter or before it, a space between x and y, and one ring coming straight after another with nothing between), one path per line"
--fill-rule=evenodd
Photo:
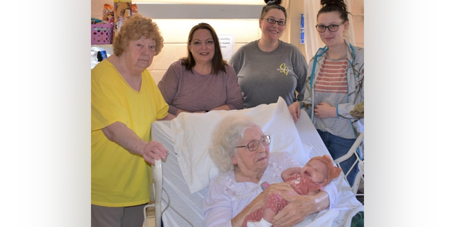
M309 192L314 192L317 189L323 189L322 184L318 184L313 182L311 179L303 177L299 174L294 174L289 178L287 183L291 184L291 187L294 188L294 191L297 194L308 194ZM245 220L242 223L242 227L247 226L247 222L256 222L260 221L262 218L262 215L264 214L264 209L269 208L272 209L275 214L278 213L278 211L281 211L284 206L287 206L289 204L289 201L286 201L286 199L283 199L282 196L280 196L277 193L272 193L267 197L267 201L264 207L259 208L255 211L253 211L251 214L248 214L247 217L245 217Z

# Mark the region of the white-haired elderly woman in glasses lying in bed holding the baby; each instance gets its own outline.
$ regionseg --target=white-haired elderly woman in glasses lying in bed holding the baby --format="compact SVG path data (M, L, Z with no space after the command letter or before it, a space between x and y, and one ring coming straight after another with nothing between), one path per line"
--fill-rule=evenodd
M264 206L272 193L289 201L274 216L274 226L294 226L310 214L336 206L338 190L333 182L314 196L295 195L289 184L282 183L283 170L302 165L287 153L270 153L271 139L247 116L228 116L216 126L209 154L220 174L210 182L203 201L205 226L242 226L247 214ZM271 186L263 190L264 182Z

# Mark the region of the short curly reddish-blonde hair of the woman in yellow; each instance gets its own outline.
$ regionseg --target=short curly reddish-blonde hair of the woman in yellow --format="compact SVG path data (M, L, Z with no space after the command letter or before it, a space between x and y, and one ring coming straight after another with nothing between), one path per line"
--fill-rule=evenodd
M158 26L150 18L141 16L139 13L129 17L122 25L119 33L114 36L112 47L116 56L122 55L132 40L139 40L142 37L155 40L155 56L163 49L164 39L161 36Z

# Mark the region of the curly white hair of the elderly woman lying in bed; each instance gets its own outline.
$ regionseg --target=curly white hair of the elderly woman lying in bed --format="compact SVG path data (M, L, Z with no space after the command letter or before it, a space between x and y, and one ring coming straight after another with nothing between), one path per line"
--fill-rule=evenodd
M220 172L234 170L232 157L236 154L235 145L243 140L247 128L259 127L249 116L231 115L215 126L208 154Z

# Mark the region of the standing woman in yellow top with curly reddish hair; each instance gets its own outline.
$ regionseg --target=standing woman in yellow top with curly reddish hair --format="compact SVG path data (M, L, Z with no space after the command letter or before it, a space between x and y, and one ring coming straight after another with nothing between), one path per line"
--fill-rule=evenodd
M151 165L168 153L151 141L151 123L175 117L147 70L163 38L156 23L137 14L115 35L113 48L92 70L92 227L141 227Z

